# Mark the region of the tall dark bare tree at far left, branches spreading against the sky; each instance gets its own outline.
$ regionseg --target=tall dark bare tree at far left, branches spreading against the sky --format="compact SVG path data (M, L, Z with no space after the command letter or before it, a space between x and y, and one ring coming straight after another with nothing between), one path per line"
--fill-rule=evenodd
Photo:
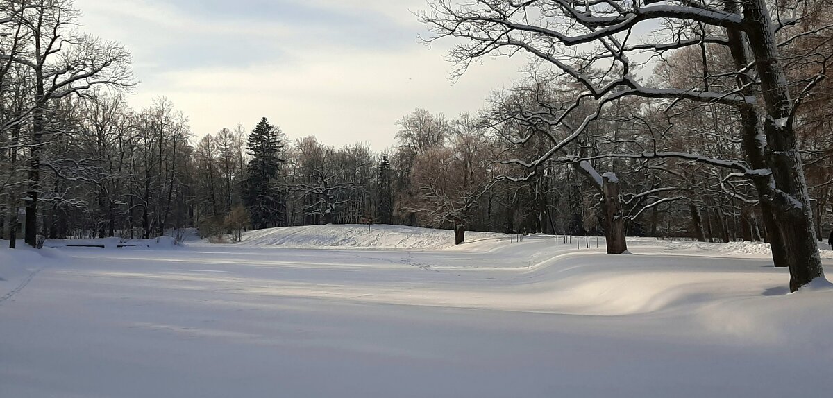
M27 244L36 246L42 172L63 177L53 167L60 162L44 158L46 144L64 132L53 123L57 101L83 95L95 87L131 85L130 54L117 43L77 32L78 12L70 0L5 0L0 12L4 31L0 37L11 40L12 46L10 52L0 52L0 62L25 69L29 82L25 103L2 122L0 130L27 127L26 137L21 137L25 138L21 144L27 152L27 187L21 195L26 208L24 238Z

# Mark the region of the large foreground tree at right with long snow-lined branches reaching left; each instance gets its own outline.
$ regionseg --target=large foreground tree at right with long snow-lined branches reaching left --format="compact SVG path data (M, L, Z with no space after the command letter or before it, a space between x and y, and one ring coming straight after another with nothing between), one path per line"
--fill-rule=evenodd
M651 137L640 152L594 157L704 162L731 169L730 180L751 181L763 211L776 221L771 228L780 239L771 241L773 260L789 266L791 291L796 291L823 276L796 140L796 113L821 81L829 57L822 54L808 63L818 71L811 77L791 80L780 47L806 34L790 27L806 17L807 8L776 6L779 12L772 13L770 7L765 0L435 0L421 19L434 32L429 41L460 39L451 49L458 73L480 57L524 52L582 87L571 105L546 116L552 126L569 133L554 140L540 157L518 162L529 169L561 156L562 148L580 139L591 122L622 98L642 97L668 107L679 102L736 107L742 128L735 139L742 142L745 159L661 152L651 147ZM645 28L654 34L641 34ZM722 72L706 71L696 86L685 88L651 87L637 76L646 54L662 57L681 48L708 46L731 52L732 84L711 84L722 82L727 76ZM591 112L581 115L581 122L565 124L586 105Z

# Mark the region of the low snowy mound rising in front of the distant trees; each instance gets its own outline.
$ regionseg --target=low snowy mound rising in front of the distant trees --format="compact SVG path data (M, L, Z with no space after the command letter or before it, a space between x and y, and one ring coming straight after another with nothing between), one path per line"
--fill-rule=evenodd
M494 232L466 232L466 241L505 237ZM284 226L249 231L242 244L252 246L374 247L386 249L444 249L454 246L454 231L389 226L344 224L326 226Z

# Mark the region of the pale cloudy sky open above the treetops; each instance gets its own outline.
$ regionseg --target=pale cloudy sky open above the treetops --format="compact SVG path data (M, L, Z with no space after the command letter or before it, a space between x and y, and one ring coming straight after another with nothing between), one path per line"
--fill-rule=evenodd
M486 61L454 84L446 50L417 42L424 0L76 0L82 31L121 42L142 108L165 96L202 136L266 116L290 138L394 142L423 107L455 117L511 85L521 60ZM451 42L441 43L451 45Z

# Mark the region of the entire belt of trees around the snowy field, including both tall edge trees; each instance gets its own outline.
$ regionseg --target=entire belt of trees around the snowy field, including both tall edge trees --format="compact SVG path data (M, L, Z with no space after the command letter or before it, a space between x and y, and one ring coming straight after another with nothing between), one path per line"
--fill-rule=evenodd
M598 234L611 253L626 236L686 236L770 242L793 290L821 276L826 2L430 7L426 41L455 40L455 73L486 56L530 66L476 112L402 116L397 145L373 152L291 140L265 117L197 138L167 99L127 107L129 52L77 32L72 2L0 1L3 236L376 222L450 228L457 243L468 230ZM635 33L643 22L654 35Z

